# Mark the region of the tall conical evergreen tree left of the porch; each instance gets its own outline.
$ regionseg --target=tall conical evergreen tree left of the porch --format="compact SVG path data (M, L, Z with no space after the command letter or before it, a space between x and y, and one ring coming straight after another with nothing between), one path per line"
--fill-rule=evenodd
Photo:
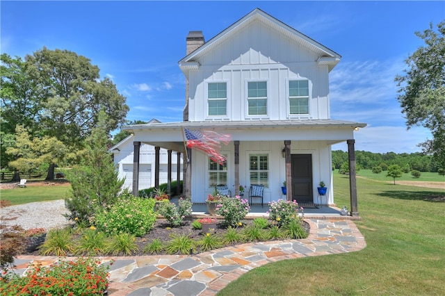
M118 200L124 180L118 179L111 154L107 152L107 117L104 110L99 112L97 127L86 140L86 153L81 166L68 173L71 190L65 198L65 205L74 220L89 222L97 208L111 206Z

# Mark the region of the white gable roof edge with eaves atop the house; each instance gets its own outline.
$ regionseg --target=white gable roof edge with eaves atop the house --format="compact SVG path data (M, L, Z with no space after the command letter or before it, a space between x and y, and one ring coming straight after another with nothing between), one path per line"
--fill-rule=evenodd
M218 47L219 44L226 42L234 34L236 34L238 31L241 31L243 28L245 28L255 20L263 22L271 28L275 28L275 30L282 33L287 38L290 38L298 44L301 44L303 47L307 47L308 49L314 51L316 54L318 54L318 56L320 56L320 58L318 58L317 60L317 63L319 65L328 65L329 71L333 69L335 65L337 65L337 63L339 63L340 61L341 56L335 51L328 49L323 44L316 42L312 38L309 38L307 35L300 33L291 26L288 26L280 20L275 19L275 17L268 15L263 10L255 8L250 13L248 13L248 15L245 15L237 22L232 24L232 26L229 26L224 31L211 38L211 40L204 43L202 47L199 47L195 51L191 52L191 54L188 54L187 56L179 60L178 63L182 72L186 73L189 69L197 69L197 67L199 67L199 63L197 62L197 60L199 60L200 56L207 54L215 47Z

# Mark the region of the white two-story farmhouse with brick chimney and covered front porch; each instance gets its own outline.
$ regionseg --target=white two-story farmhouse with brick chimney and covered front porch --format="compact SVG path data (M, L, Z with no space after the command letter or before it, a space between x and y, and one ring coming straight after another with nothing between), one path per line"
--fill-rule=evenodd
M339 54L259 9L207 42L201 31L191 31L186 43L179 61L186 77L184 122L124 127L134 133L133 192L142 142L185 155L184 188L194 203L204 203L220 183L234 194L240 185L263 184L264 204L280 198L320 203L316 188L324 181L322 203L334 204L331 145L347 141L351 210L358 214L353 139L366 124L330 120L329 73ZM183 127L230 135L232 142L221 147L227 162L187 153Z

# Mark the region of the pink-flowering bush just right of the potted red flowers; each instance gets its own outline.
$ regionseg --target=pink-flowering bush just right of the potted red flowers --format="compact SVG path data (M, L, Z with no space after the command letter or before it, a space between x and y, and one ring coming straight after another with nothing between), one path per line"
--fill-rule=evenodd
M237 227L249 212L248 200L239 195L234 198L223 197L216 206L216 213L223 216L225 224L231 227Z

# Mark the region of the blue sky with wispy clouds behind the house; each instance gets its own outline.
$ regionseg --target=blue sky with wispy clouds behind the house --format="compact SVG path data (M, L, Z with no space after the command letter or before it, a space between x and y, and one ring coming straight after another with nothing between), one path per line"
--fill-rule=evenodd
M406 130L396 74L423 42L414 31L445 19L445 1L1 1L1 53L47 47L90 58L127 97L127 120L182 120L188 31L205 40L260 8L342 56L330 74L331 117L365 122L357 150L421 151ZM346 143L332 149L347 149Z

